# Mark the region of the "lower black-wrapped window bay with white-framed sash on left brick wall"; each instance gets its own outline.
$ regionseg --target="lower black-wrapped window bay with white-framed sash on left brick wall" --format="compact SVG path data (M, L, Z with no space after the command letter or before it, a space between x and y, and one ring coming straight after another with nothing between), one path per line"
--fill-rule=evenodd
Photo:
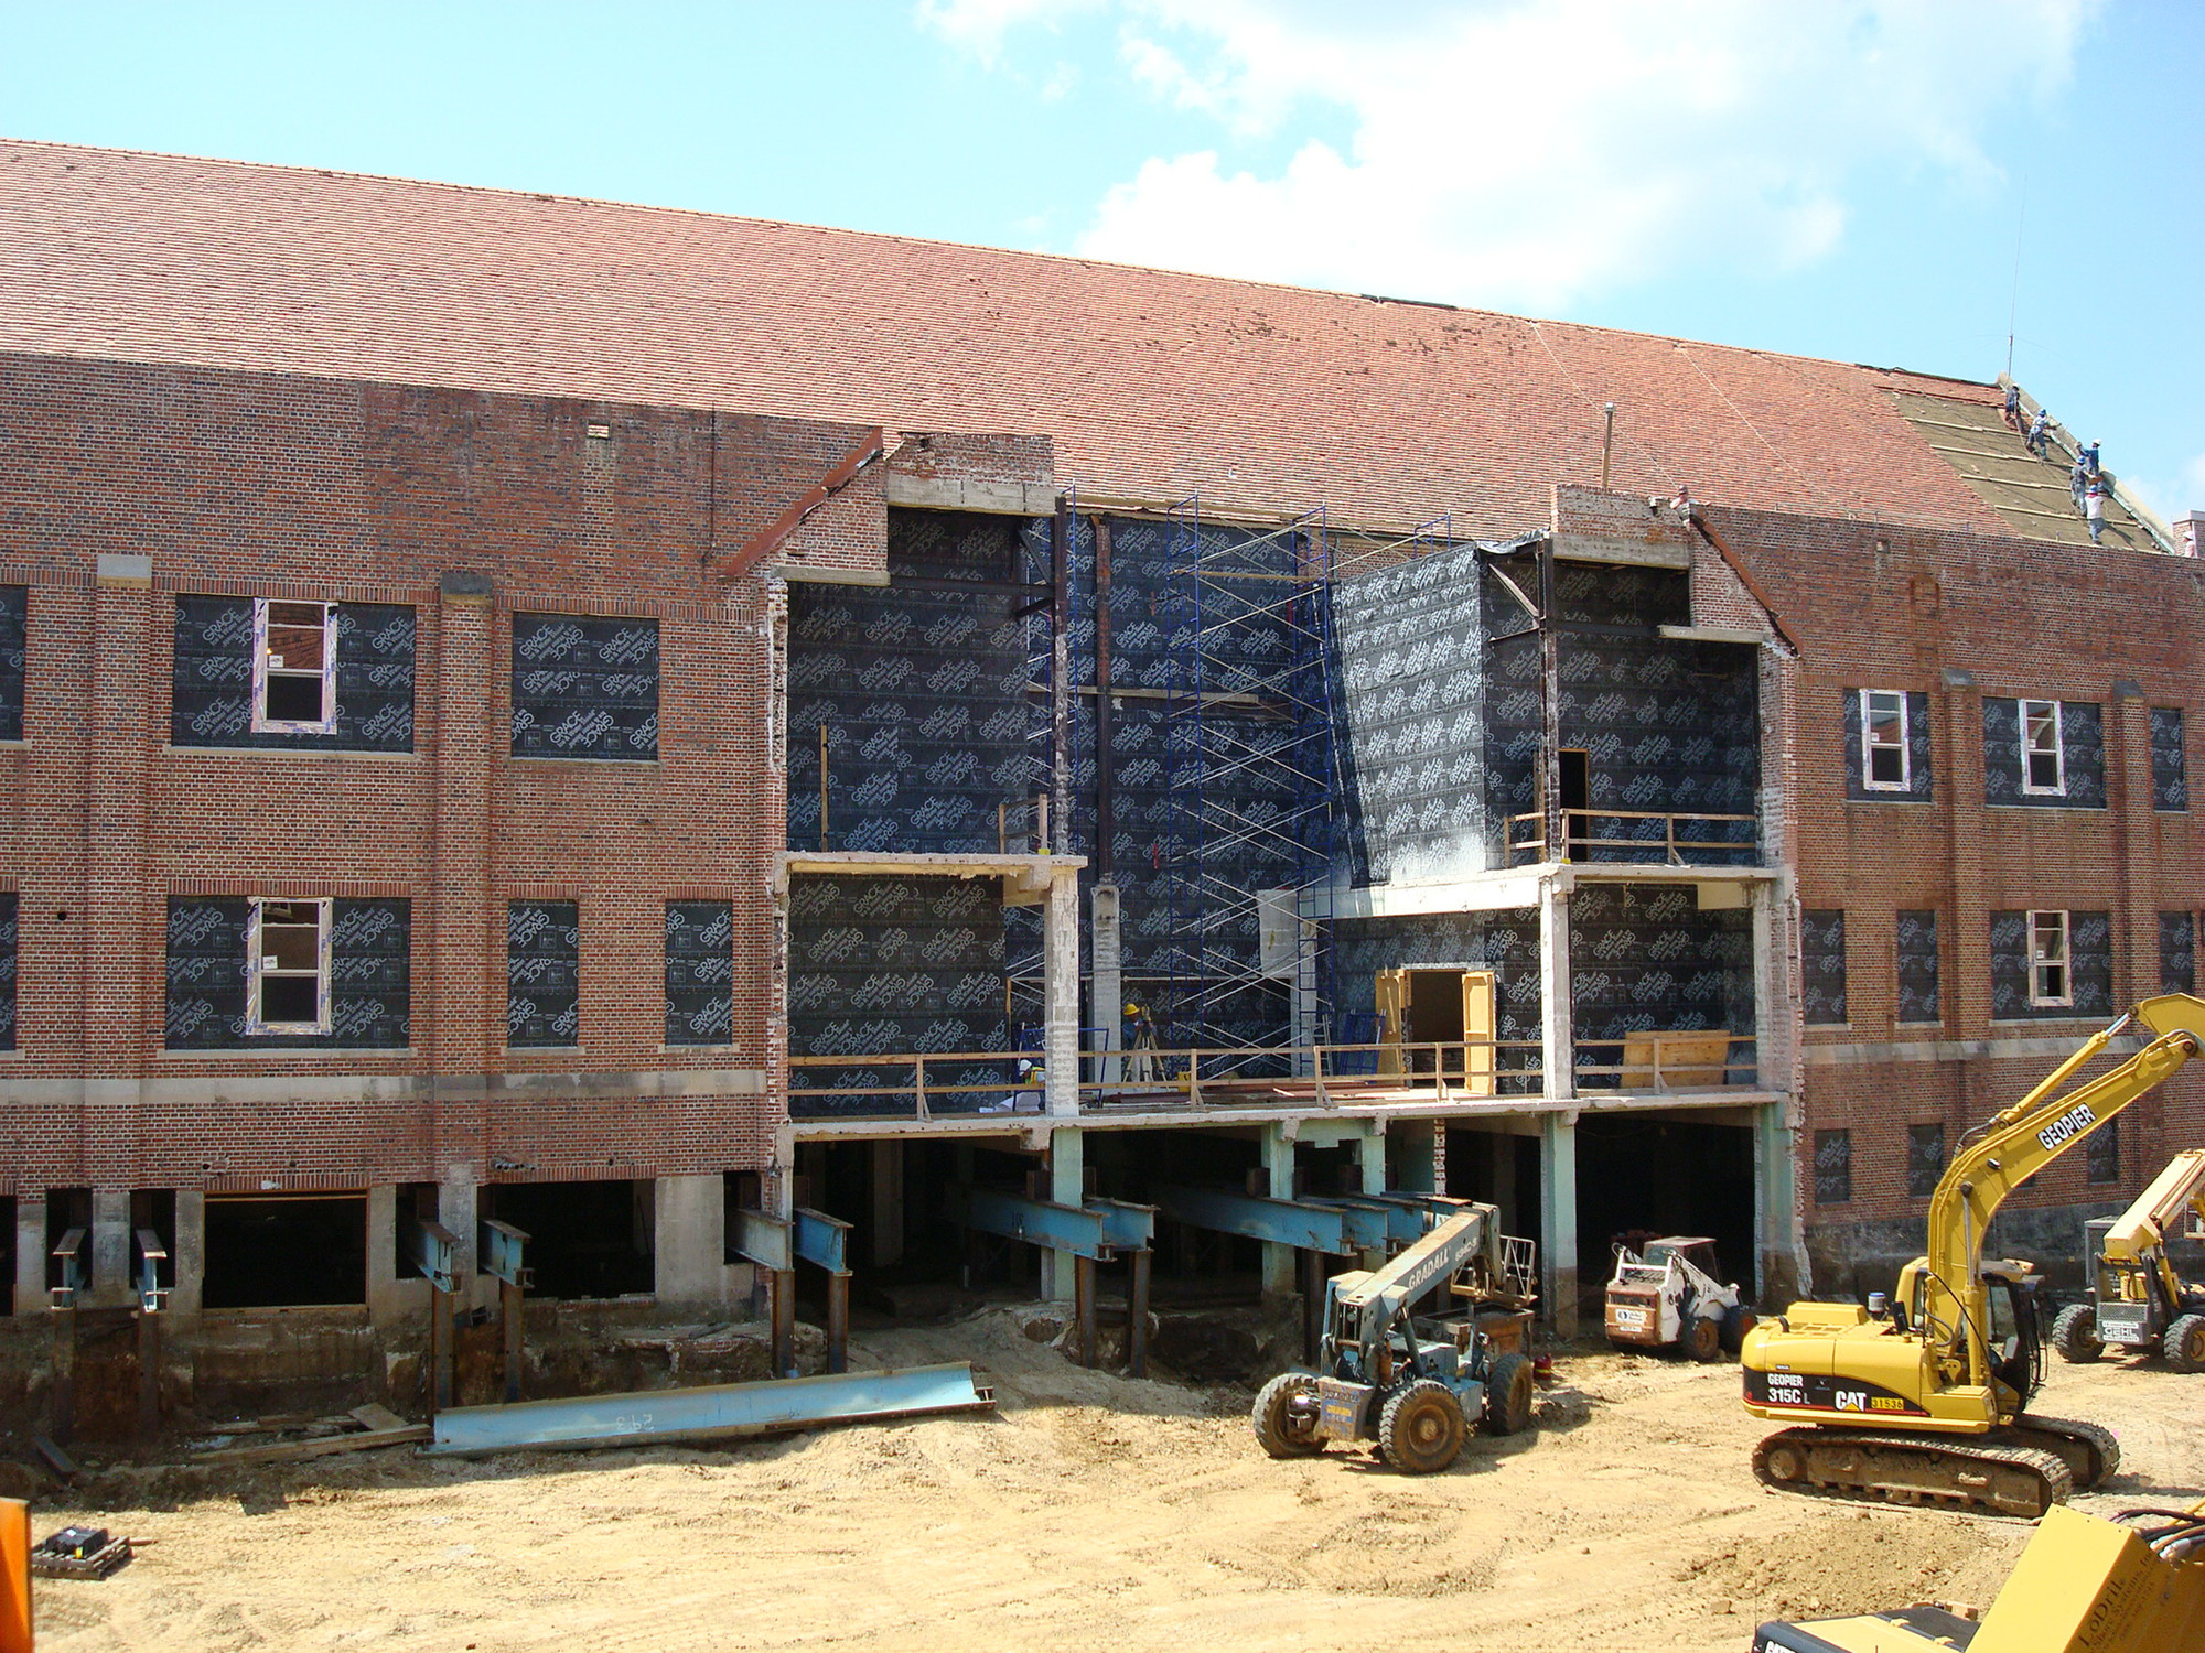
M326 1025L313 1031L302 1023L267 1020L265 1012L271 1005L260 961L269 954L251 952L260 928L254 908L276 906L282 917L284 910L318 904L320 897L282 901L245 895L170 897L165 1047L172 1051L404 1049L412 1036L412 904L404 899L326 901ZM293 946L289 952L278 948L273 957L298 963L302 954ZM306 976L284 974L278 968L273 979L295 983ZM300 1007L300 987L278 987L273 1009L289 1014Z

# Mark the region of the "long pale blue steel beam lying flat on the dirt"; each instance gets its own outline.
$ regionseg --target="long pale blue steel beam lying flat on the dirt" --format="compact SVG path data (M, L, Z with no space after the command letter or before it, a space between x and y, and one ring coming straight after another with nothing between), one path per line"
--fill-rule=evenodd
M648 1389L635 1395L525 1400L512 1406L452 1406L437 1413L423 1452L512 1452L529 1446L631 1446L774 1435L818 1424L862 1424L919 1413L994 1408L994 1391L972 1382L964 1360L900 1371L849 1371L763 1384Z

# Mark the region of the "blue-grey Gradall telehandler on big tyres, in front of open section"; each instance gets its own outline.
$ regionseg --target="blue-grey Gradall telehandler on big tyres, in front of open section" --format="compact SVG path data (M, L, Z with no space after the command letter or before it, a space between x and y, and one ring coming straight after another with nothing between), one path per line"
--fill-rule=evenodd
M1433 1474L1462 1455L1473 1419L1488 1435L1530 1424L1530 1267L1508 1267L1510 1250L1528 1258L1528 1245L1502 1239L1497 1217L1471 1206L1385 1267L1325 1283L1316 1371L1283 1371L1255 1397L1250 1424L1266 1452L1310 1457L1327 1441L1376 1441L1396 1470ZM1442 1283L1473 1311L1420 1325L1411 1309ZM1499 1331L1515 1347L1502 1349Z

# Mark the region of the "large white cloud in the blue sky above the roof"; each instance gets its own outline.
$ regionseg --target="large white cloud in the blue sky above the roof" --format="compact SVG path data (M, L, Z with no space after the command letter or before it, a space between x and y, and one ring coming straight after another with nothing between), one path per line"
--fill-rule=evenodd
M1671 269L1795 269L1910 172L2000 179L1991 121L2057 88L2097 0L1127 0L1125 73L1213 119L1147 159L1076 249L1226 276L1563 309ZM1080 0L937 0L1001 51ZM1235 143L1305 137L1283 163Z

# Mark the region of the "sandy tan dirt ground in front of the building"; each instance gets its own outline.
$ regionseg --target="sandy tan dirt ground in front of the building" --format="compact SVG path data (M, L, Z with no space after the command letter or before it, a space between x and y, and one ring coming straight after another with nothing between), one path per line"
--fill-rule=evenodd
M2011 1521L1764 1492L1738 1369L1563 1355L1535 1435L1409 1479L1274 1463L1244 1391L1078 1371L988 1314L875 1333L864 1364L972 1358L1001 1411L725 1450L106 1477L152 1538L40 1580L44 1653L95 1649L1707 1649L1762 1618L1989 1605ZM2196 1499L2205 1380L2053 1362L2040 1411L2121 1435L2084 1508Z

